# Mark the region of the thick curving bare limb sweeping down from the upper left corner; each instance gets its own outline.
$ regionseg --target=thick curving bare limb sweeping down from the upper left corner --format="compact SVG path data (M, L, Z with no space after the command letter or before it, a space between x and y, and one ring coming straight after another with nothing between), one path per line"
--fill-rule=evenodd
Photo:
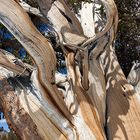
M70 121L72 116L55 86L56 56L50 43L31 22L27 13L14 0L1 0L0 22L17 38L34 59L38 69L38 81L45 100L55 102ZM8 12L9 11L9 12ZM19 16L20 15L20 16ZM10 24L9 24L10 23ZM46 58L46 56L48 56ZM51 65L50 65L51 64ZM52 104L54 104L52 102Z

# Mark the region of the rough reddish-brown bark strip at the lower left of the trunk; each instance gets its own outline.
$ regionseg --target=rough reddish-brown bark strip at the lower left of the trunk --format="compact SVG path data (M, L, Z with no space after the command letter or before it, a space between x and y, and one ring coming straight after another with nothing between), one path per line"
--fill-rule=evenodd
M42 139L37 132L37 126L22 107L13 87L8 83L6 77L2 76L0 76L0 101L9 127L20 139Z

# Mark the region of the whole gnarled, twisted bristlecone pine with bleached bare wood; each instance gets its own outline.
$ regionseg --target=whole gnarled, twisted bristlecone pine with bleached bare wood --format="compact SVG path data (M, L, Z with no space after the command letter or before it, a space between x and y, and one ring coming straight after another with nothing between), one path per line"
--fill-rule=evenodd
M139 94L127 82L113 47L117 8L113 0L101 2L106 24L95 32L94 1L82 5L79 22L64 0L38 0L40 12L21 0L0 0L0 22L35 63L0 50L0 103L19 139L140 138ZM56 73L55 51L29 13L46 18L55 29L66 76Z

